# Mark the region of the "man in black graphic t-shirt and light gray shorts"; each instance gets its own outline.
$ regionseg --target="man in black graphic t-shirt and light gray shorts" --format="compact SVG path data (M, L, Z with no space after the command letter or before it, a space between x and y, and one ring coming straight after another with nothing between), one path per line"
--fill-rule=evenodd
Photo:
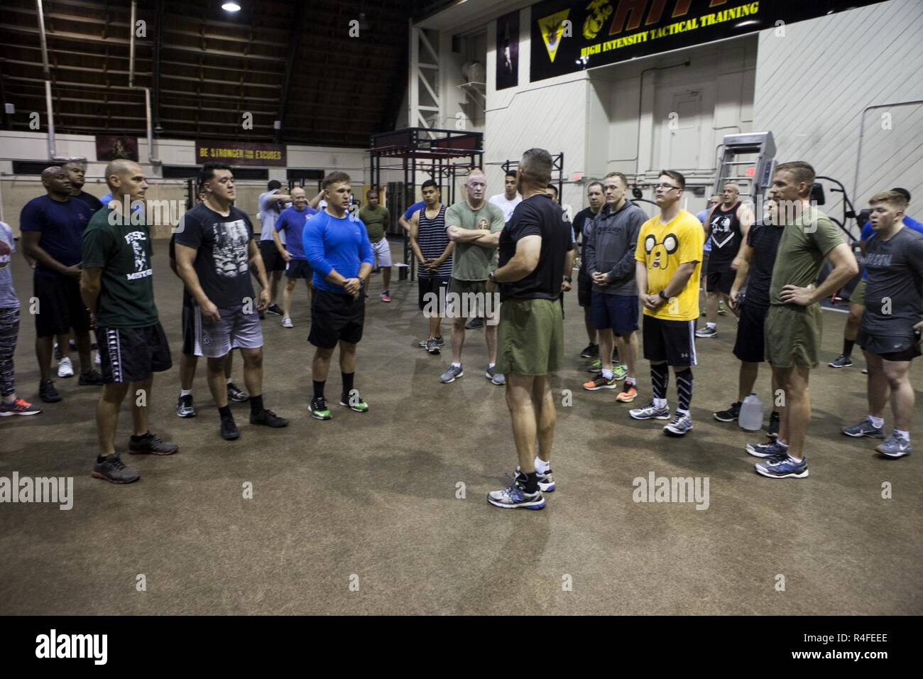
M224 377L227 355L235 348L244 358L244 382L250 393L250 424L288 426L263 407L263 331L258 311L270 303L269 282L253 224L235 208L234 175L225 164L206 164L199 176L205 200L183 215L176 229L176 268L195 303L195 352L209 359L209 388L221 415L225 441L240 437L228 406ZM262 290L254 299L249 265L256 267Z

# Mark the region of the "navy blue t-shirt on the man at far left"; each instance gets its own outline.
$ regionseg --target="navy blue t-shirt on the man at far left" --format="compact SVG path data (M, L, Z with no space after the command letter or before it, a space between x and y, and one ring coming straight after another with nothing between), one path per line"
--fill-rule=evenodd
M39 246L65 266L80 263L83 230L90 223L90 206L83 200L68 197L64 202L49 196L33 198L19 213L20 231L38 231ZM35 273L50 278L60 277L36 262Z

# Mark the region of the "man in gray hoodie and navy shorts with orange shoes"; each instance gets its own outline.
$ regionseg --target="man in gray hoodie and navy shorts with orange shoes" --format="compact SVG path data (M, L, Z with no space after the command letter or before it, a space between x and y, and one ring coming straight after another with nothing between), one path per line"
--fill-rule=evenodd
M638 286L635 285L634 252L641 224L647 215L625 198L628 178L620 172L605 176L605 207L593 219L593 229L586 244L586 271L593 279L590 316L599 331L599 357L603 371L586 382L589 392L617 389L612 366L613 334L618 356L627 372L619 403L630 403L638 395L635 358L638 356Z

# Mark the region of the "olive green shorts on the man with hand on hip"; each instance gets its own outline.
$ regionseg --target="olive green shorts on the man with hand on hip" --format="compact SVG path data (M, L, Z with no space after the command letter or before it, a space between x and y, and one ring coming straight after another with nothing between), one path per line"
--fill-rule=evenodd
M773 368L817 368L821 348L821 305L769 308L764 330L766 360Z

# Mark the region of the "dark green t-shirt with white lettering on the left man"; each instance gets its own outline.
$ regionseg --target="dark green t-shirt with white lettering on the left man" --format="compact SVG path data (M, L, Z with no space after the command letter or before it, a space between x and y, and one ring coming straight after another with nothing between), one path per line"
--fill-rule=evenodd
M130 219L112 212L93 214L83 232L83 268L102 269L96 322L103 328L146 328L158 321L150 227L130 224Z

